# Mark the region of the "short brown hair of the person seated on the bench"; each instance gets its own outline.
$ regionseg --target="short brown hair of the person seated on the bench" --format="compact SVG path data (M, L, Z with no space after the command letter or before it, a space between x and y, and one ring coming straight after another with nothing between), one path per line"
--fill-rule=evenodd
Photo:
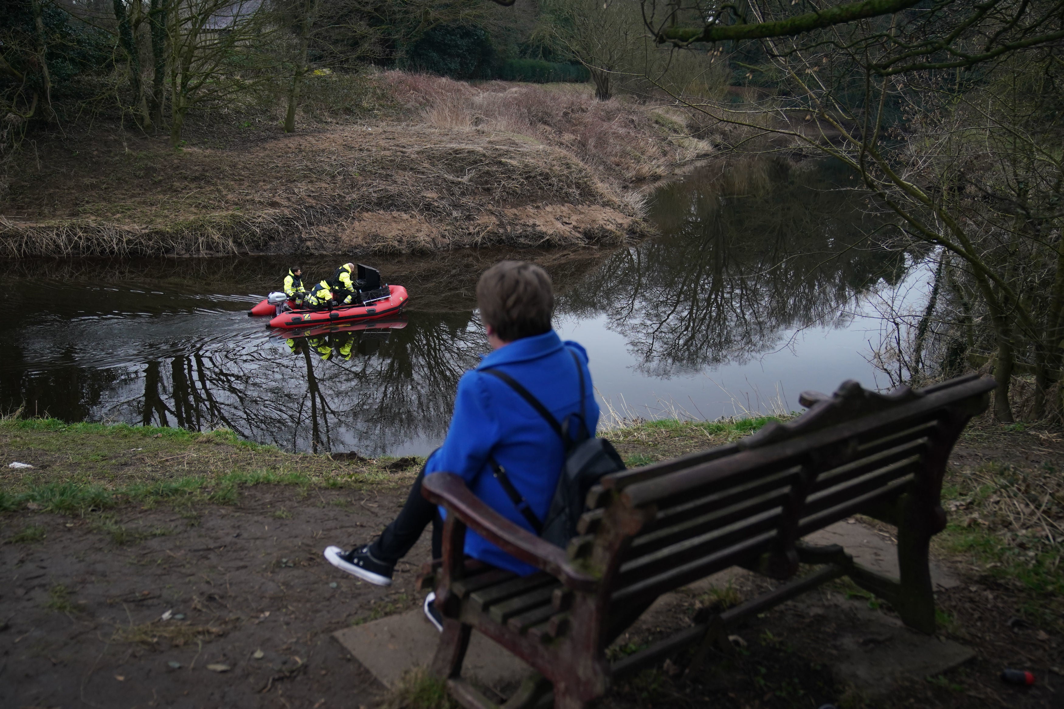
M554 290L547 272L526 261L499 261L477 283L480 317L499 339L512 342L550 331Z

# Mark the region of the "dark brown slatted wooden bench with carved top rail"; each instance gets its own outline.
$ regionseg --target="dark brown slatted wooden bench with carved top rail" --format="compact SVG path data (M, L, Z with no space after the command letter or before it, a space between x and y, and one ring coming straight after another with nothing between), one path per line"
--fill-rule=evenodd
M846 575L931 634L934 595L928 544L946 526L940 504L946 460L968 420L986 409L994 379L960 377L890 394L844 383L801 395L809 410L728 445L602 478L588 495L580 535L562 550L484 505L458 475L425 479L447 509L436 604L444 632L431 671L466 707L497 705L461 677L476 628L542 676L503 706L531 707L553 690L555 709L585 707L611 677L695 642L704 655L745 619ZM801 541L852 514L897 526L900 578L870 571L843 547ZM467 528L541 571L519 577L463 556ZM775 579L808 575L714 614L610 664L605 649L658 596L739 565Z

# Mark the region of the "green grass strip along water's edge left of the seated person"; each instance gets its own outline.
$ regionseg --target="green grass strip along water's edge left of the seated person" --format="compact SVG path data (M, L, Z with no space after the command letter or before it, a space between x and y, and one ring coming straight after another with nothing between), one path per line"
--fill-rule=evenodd
M289 454L243 441L227 429L201 434L9 417L0 419L0 444L31 458L36 452L46 463L39 472L12 475L0 485L0 512L29 508L86 514L129 503L186 509L196 502L235 504L239 489L252 485L290 485L300 488L298 496L306 496L315 487L401 486L409 478L385 468L395 461L352 465ZM179 470L188 473L169 477Z

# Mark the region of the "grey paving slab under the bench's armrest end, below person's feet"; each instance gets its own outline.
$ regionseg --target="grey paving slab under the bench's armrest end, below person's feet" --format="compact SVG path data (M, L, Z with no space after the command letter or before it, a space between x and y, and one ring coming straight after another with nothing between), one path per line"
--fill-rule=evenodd
M386 687L406 670L428 665L439 642L439 632L420 609L344 628L333 637ZM473 631L462 664L463 677L504 696L531 671L522 660Z

